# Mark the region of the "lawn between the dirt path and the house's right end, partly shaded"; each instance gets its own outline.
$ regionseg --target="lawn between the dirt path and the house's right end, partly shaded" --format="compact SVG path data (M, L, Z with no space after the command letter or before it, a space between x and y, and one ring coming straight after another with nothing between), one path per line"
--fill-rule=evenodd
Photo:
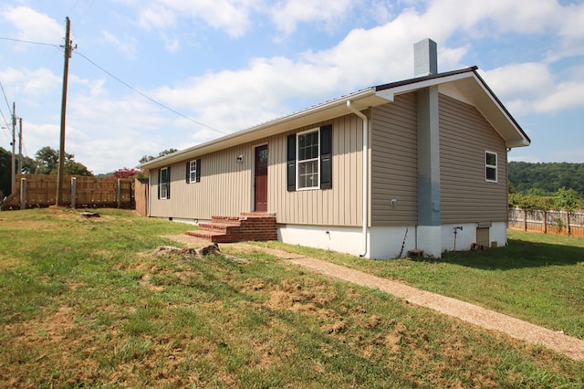
M270 242L420 289L473 302L584 339L584 238L508 231L508 246L437 260L371 261Z

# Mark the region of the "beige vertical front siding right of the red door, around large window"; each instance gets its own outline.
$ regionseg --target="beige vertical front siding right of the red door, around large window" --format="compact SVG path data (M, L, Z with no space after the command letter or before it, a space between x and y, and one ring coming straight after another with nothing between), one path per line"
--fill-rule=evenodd
M287 192L287 135L332 124L332 189ZM362 124L355 115L316 123L269 139L269 212L278 223L360 226L362 223Z

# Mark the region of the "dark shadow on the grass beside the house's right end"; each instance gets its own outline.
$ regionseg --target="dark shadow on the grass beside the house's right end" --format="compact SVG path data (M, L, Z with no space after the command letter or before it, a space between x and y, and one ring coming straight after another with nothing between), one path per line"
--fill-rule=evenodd
M584 266L584 247L509 238L506 247L486 251L447 252L436 261L485 270Z

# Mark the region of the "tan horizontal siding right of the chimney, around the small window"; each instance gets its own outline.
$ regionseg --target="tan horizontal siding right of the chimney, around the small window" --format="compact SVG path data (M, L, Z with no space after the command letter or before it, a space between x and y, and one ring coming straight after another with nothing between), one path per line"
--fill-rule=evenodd
M443 94L440 104L442 223L506 221L506 145L480 112ZM497 153L498 181L485 181L485 151Z

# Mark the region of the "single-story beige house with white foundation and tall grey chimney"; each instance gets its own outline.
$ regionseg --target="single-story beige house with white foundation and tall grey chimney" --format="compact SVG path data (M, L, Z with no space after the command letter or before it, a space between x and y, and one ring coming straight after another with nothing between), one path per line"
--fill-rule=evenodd
M424 39L413 79L142 164L149 216L267 212L279 240L365 258L506 245L507 152L530 140L476 67L436 57Z

